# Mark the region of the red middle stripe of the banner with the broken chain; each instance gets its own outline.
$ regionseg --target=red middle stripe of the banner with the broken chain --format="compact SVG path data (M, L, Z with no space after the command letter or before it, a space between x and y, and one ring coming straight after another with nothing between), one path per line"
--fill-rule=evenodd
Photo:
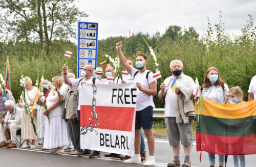
M99 129L132 131L135 107L96 106L95 110L98 120L93 119L93 107L91 105L81 105L81 127L93 123L92 127Z

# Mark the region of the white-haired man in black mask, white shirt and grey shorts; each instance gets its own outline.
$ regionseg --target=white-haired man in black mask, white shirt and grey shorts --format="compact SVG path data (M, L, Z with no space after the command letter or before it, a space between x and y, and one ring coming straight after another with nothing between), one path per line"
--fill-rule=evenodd
M168 134L169 145L173 146L174 160L172 163L169 163L167 166L180 166L180 141L184 147L184 166L189 166L190 162L190 153L192 147L192 125L176 123L176 102L178 95L181 93L179 86L195 89L194 80L182 72L183 64L180 60L174 60L170 62L170 71L173 73L172 76L167 77L164 82L160 85L159 98L163 99L165 96L165 107L164 107L164 117L166 131ZM175 92L172 91L172 84L176 79L177 88ZM194 98L195 95L191 95L190 98ZM183 166L183 165L182 165Z

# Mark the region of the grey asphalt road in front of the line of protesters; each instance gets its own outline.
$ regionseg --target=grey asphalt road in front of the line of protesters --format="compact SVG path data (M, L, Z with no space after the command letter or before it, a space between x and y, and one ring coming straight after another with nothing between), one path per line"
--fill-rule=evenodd
M166 138L155 138L155 166L167 166L167 163L173 160L173 153L169 147ZM38 142L38 141L37 141ZM36 142L36 144L37 144ZM36 145L36 149L7 149L0 148L0 167L12 166L143 166L142 163L125 164L117 158L104 157L104 152L101 152L99 158L87 158L71 156L67 153L50 154L49 151L41 151L41 146ZM146 147L147 148L147 147ZM148 150L146 150L148 155ZM192 166L209 166L208 155L202 152L202 162L199 160L200 152L196 151L194 145L191 153ZM217 157L217 156L216 156ZM246 155L246 166L256 166L254 163L255 155ZM184 160L183 149L180 155L181 162ZM217 158L218 162L218 158ZM217 165L216 165L217 166ZM233 166L232 156L228 157L227 166Z

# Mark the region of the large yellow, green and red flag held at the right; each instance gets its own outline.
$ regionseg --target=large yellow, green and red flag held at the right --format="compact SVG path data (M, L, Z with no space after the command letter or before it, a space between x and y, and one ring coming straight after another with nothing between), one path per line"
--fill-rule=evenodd
M198 106L195 108L198 115ZM256 100L221 104L203 99L196 140L197 151L222 155L256 154Z

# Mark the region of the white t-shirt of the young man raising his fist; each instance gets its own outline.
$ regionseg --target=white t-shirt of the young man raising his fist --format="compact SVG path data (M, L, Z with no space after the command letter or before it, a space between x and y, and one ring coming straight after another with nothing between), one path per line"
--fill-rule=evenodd
M138 72L134 77L134 74L136 73L136 71L139 71L139 70L132 67L132 78L134 78L134 81L140 82L142 88L150 89L149 84L156 81L153 78L153 73L151 72L150 74L148 74L148 78L146 79L146 73L149 70L146 70L142 73ZM147 80L148 80L148 82L147 82ZM153 97L151 95L147 95L147 94L141 92L139 89L137 89L136 111L140 111L150 105L153 106L153 108L155 108L155 104L153 102Z

